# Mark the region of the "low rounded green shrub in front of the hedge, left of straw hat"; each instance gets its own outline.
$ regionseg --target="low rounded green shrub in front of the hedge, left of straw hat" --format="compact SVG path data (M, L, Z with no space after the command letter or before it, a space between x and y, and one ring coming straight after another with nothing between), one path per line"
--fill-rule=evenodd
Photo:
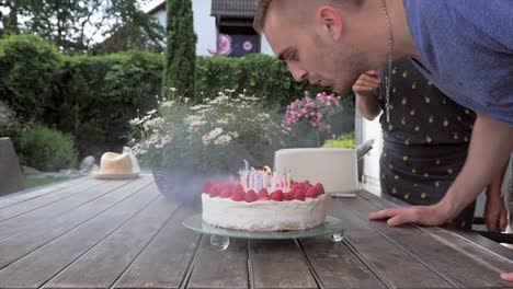
M43 126L22 132L19 153L22 163L41 171L76 167L78 162L73 138Z

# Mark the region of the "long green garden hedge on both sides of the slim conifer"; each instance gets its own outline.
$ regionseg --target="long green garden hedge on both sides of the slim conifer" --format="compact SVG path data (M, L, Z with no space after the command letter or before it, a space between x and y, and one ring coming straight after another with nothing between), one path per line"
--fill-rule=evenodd
M235 89L285 107L305 90L321 90L295 82L285 63L266 55L198 57L196 68L195 102ZM99 157L126 142L127 122L137 109L156 106L162 69L160 54L67 57L37 36L10 36L0 39L0 101L24 119L72 134L80 155Z

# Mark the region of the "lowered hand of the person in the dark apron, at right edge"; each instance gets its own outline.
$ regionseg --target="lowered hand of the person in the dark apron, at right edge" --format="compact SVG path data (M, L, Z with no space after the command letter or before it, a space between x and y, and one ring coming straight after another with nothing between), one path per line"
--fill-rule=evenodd
M500 194L488 194L485 206L485 222L488 231L502 232L508 224L508 211Z

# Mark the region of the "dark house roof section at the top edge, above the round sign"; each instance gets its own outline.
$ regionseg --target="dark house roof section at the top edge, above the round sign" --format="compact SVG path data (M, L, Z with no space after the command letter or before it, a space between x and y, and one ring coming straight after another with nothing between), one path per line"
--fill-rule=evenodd
M212 0L213 16L253 18L255 0Z

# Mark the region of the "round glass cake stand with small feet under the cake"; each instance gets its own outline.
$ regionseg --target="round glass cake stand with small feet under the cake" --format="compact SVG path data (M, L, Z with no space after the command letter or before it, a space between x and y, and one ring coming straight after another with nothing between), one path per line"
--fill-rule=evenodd
M230 238L235 239L256 239L256 240L283 240L283 239L304 239L331 235L333 242L341 242L344 235L342 221L327 216L323 224L300 231L281 231L281 232L261 232L261 231L243 231L232 230L219 227L209 226L202 220L202 215L196 213L183 221L183 226L204 234L210 235L210 245L220 251L228 248Z

